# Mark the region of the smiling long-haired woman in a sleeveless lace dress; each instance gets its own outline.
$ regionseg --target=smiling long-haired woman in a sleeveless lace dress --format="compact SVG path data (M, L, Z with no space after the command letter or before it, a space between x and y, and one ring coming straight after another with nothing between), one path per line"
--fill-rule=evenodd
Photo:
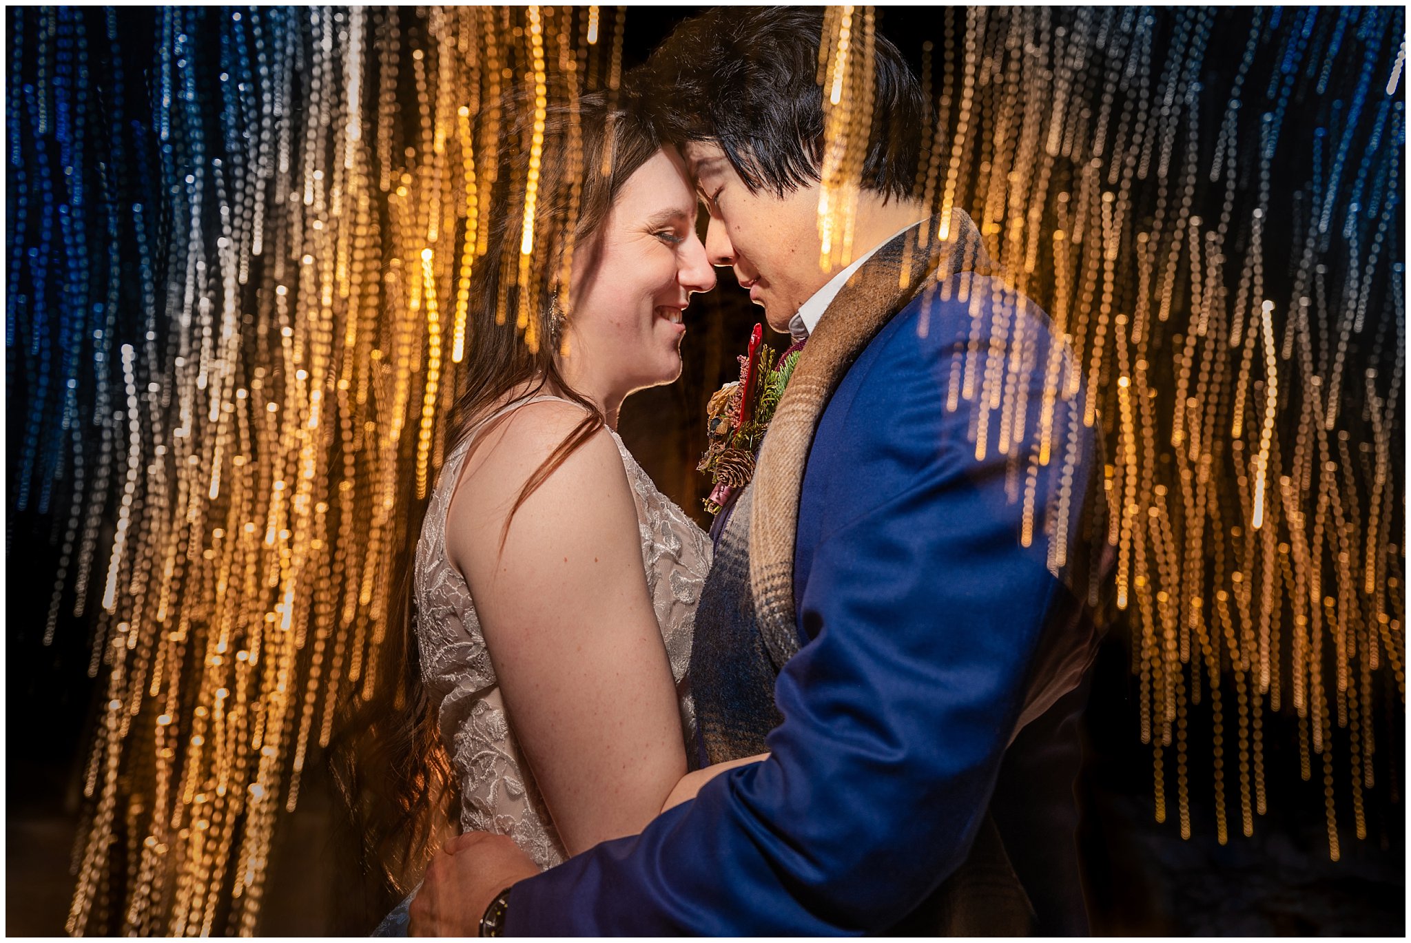
M563 287L543 299L549 343L531 353L512 311L497 309L501 267L473 275L463 421L416 546L406 706L382 726L378 762L361 754L358 782L377 765L381 788L343 778L354 810L382 803L367 847L401 891L452 833L429 819L456 795L460 830L505 834L549 868L749 762L687 772L686 668L710 541L615 431L632 391L679 377L683 312L715 284L694 191L680 155L632 114L588 96L579 119L571 309ZM566 121L552 116L546 138ZM525 160L511 151L504 161ZM571 169L562 150L543 154L536 232L552 239ZM522 179L509 171L499 179ZM521 226L522 193L497 189L484 260ZM378 932L405 933L405 911Z

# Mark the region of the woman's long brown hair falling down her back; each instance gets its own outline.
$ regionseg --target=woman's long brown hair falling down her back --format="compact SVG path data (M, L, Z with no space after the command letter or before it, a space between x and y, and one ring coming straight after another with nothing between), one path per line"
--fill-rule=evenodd
M584 407L586 415L525 483L511 510L604 426L594 402L574 391L555 360L559 352L553 309L567 309L571 256L595 270L600 233L618 192L660 148L635 107L610 107L601 93L586 95L576 109L547 110L539 161L536 239L543 247L539 278L521 284L518 237L525 212L525 167L533 100L522 90L501 99L478 120L502 120L498 167L490 188L484 250L471 272L466 325L466 376L452 416L453 440L463 439L511 391L550 390ZM577 137L580 147L570 143ZM607 158L607 160L604 160ZM487 168L488 169L488 168ZM484 219L484 217L483 217ZM464 227L468 229L468 227ZM466 233L460 234L466 239ZM556 298L557 295L557 298ZM521 316L528 313L529 323ZM516 320L521 323L516 325ZM449 452L449 449L447 449ZM508 531L508 519L505 531ZM377 872L396 895L420 878L442 841L459 830L459 788L442 741L436 703L420 676L412 593L413 548L402 555L396 599L382 648L385 679L373 699L356 704L339 724L329 748L334 782L361 840L364 875Z

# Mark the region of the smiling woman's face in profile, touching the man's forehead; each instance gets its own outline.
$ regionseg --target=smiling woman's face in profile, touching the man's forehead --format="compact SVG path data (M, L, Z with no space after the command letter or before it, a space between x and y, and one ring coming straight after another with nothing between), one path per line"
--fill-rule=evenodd
M682 373L683 313L715 287L696 236L696 193L674 148L663 148L618 191L595 264L574 258L570 357L593 385L625 395Z

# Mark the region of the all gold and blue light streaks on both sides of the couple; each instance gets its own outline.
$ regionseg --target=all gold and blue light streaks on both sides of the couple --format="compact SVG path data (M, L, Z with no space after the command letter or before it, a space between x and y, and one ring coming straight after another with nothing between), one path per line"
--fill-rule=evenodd
M495 102L617 89L629 17L7 16L10 510L58 548L45 642L90 632L75 672L104 690L68 927L253 933L303 771L381 683L470 271L552 275L531 208L512 258L480 257L497 151L531 155L533 199L555 145L504 140ZM825 14L830 257L859 140L896 117L872 107L878 16ZM1098 392L1133 710L1182 836L1192 789L1221 841L1252 834L1283 711L1301 762L1268 775L1325 785L1338 857L1387 768L1373 716L1400 735L1403 34L1400 8L975 8L924 47L914 195L975 219L1072 343L1055 383ZM1041 425L1010 381L952 398ZM1015 500L1064 435L1012 456Z

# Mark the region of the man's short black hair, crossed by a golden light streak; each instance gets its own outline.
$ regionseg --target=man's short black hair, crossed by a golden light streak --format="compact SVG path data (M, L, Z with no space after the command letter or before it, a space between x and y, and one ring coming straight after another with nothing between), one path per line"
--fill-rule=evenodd
M713 141L752 191L820 179L823 7L715 7L679 25L632 76L658 133ZM862 188L913 192L930 103L906 59L876 35L872 133Z

